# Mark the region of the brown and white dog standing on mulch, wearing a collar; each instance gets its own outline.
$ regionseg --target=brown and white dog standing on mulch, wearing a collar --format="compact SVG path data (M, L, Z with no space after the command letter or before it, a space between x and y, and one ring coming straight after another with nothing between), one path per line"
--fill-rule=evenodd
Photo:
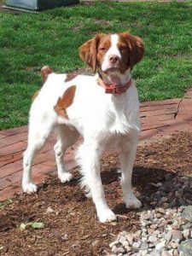
M79 135L84 137L77 153L82 185L92 197L101 222L116 218L105 200L100 176L100 158L106 148L114 146L119 152L126 207L141 207L131 190L139 131L139 102L131 69L142 60L143 52L142 39L129 33L98 34L79 49L81 59L97 72L94 77L70 77L49 67L42 69L45 82L32 102L23 160L22 188L26 193L37 191L32 182L32 160L55 130L55 160L61 183L73 177L67 172L63 154Z

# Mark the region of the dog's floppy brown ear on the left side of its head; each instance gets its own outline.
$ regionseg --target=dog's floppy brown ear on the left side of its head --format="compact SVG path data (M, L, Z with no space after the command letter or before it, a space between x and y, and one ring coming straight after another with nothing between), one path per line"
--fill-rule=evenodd
M79 48L79 56L81 60L87 63L94 73L96 73L97 46L103 36L105 36L105 34L97 34L95 38L90 39Z

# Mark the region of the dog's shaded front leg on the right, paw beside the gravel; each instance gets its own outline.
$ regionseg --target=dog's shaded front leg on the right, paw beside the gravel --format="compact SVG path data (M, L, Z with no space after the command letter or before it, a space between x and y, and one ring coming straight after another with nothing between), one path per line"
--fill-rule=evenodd
M121 186L123 189L124 201L127 208L139 208L141 201L133 194L131 189L131 177L134 161L137 153L137 132L129 137L123 137L120 143L121 154Z

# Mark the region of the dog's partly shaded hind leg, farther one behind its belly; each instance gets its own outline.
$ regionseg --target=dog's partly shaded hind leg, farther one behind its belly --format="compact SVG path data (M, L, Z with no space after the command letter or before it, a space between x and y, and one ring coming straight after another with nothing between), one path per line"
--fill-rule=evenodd
M57 143L55 143L54 150L58 177L60 178L61 183L66 183L73 178L73 175L70 172L67 172L63 155L65 154L66 149L77 141L79 132L67 125L57 125L55 131L57 133Z

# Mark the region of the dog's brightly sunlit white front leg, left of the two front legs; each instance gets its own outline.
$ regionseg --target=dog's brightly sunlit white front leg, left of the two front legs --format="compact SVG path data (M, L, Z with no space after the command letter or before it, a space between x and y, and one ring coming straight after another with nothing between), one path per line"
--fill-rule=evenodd
M97 217L104 223L116 219L116 216L108 207L102 188L100 175L101 154L101 147L95 143L84 143L79 148L79 160L83 174L82 185L90 189L92 200L96 205Z

